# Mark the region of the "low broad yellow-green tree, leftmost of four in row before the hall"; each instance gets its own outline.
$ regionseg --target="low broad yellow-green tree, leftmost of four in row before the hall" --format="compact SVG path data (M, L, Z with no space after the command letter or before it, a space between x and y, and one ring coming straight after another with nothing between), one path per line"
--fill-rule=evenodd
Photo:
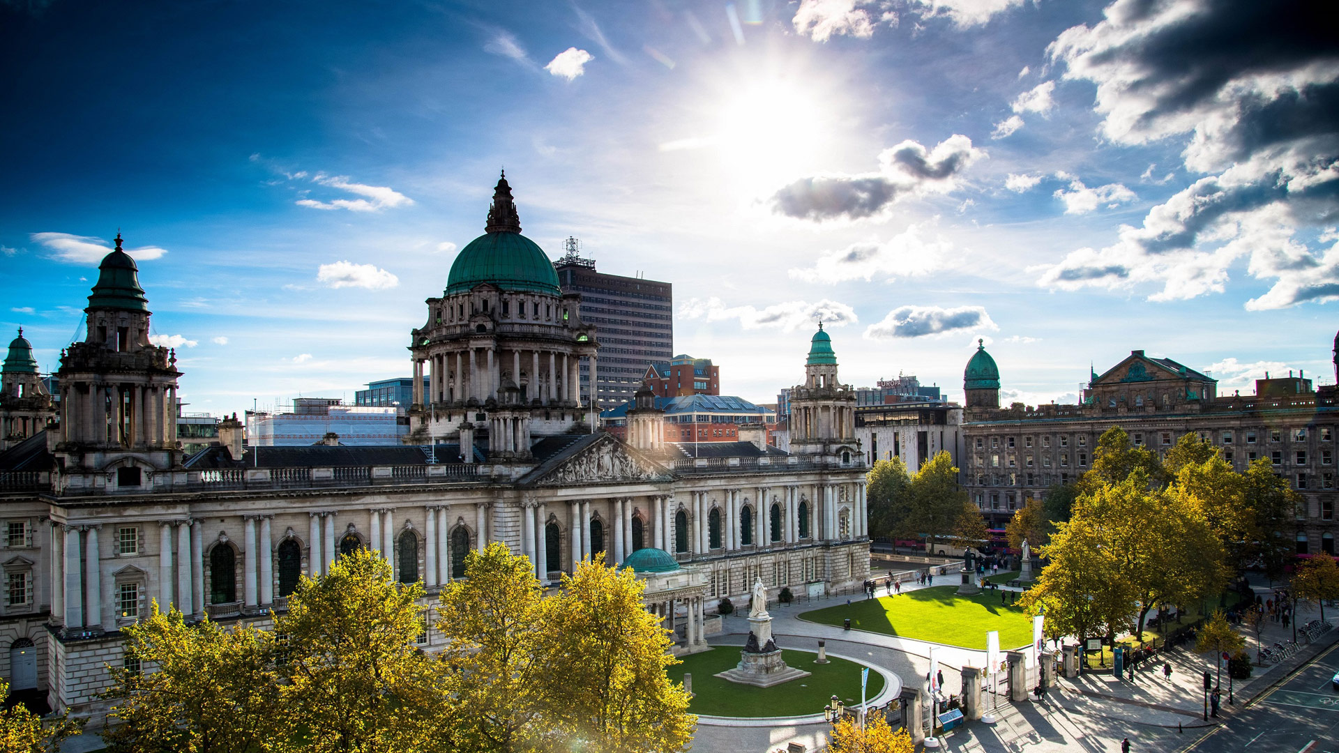
M266 749L277 711L273 634L204 620L153 604L126 632L126 662L102 698L112 753L253 753ZM150 670L151 671L143 671Z

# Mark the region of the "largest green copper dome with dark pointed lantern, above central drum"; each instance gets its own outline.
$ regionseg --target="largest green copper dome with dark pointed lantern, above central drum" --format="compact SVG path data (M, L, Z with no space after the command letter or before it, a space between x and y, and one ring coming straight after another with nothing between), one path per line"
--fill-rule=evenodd
M493 192L485 233L461 249L451 264L446 295L469 292L482 283L503 291L562 295L549 255L521 234L521 220L505 173Z

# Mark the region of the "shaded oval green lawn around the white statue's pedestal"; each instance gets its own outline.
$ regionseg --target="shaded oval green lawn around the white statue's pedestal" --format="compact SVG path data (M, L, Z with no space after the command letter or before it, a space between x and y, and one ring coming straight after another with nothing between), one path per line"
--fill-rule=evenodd
M821 714L823 706L836 694L846 705L860 703L861 665L829 657L826 665L815 665L817 654L810 651L783 650L781 654L789 666L813 673L809 677L774 685L753 687L715 677L739 663L739 648L718 646L711 651L683 658L682 665L670 667L670 679L683 681L684 673L692 674L694 714L712 717L798 717ZM884 690L884 677L869 673L866 698L873 701Z

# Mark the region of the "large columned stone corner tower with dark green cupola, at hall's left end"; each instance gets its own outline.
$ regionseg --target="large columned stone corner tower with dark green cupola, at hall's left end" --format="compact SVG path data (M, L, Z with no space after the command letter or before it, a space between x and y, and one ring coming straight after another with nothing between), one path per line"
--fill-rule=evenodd
M60 354L62 490L147 490L181 466L177 354L149 342L149 299L121 244L98 265L84 340Z

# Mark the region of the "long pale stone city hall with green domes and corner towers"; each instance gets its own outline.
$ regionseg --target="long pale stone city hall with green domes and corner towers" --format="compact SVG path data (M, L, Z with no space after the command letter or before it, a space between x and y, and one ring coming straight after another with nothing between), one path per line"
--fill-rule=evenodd
M828 332L791 390L789 452L761 426L739 442L667 442L649 390L628 411L627 441L604 433L578 378L584 366L595 383L599 332L521 234L505 178L485 234L408 331L415 393L400 445L256 448L234 415L216 445L183 453L177 390L190 375L150 343L149 299L121 245L99 267L87 331L62 352L58 394L21 334L4 362L5 421L31 430L0 453L0 675L52 709L104 711L122 628L151 603L264 624L303 575L359 547L398 580L422 580L428 602L490 541L530 557L549 588L604 557L645 580L675 653L703 650L720 600L747 603L758 579L775 598L869 575L856 397ZM438 615L427 616L419 640L432 651Z

